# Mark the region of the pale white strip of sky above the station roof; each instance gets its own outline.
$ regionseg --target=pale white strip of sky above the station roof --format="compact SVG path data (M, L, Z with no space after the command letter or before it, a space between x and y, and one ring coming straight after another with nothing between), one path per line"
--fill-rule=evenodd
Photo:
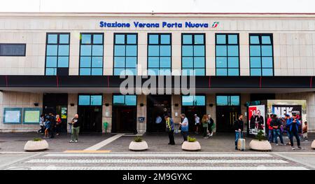
M0 12L315 13L315 0L0 0Z

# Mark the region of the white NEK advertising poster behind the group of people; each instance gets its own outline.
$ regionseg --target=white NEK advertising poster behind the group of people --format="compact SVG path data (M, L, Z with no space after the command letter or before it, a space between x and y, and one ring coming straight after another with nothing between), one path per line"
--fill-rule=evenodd
M296 114L297 119L301 122L299 126L299 134L302 134L302 106L290 106L290 105L273 105L272 113L278 118L281 118L283 122L282 134L287 134L288 128L286 128L285 115L290 115L292 118L293 114Z

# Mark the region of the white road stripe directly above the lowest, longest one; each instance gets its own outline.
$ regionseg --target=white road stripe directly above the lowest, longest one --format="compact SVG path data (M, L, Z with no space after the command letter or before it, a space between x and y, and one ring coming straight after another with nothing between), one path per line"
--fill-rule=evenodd
M28 163L78 163L78 164L95 164L95 163L125 163L125 164L262 164L262 163L276 163L284 164L288 163L284 160L155 160L155 159L146 159L146 160L137 160L137 159L118 159L118 160L69 160L69 159L34 159L27 161Z

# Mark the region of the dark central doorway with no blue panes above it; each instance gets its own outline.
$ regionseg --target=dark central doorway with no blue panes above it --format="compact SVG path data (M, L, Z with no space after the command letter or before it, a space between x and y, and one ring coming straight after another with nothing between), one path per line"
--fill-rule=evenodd
M172 115L171 101L172 95L148 95L147 132L165 132L164 116Z

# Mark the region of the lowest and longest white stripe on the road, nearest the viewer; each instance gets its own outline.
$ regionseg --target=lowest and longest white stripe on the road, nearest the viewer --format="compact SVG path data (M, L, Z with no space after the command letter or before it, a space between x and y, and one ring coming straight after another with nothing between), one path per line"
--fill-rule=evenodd
M7 170L309 170L305 167L10 167Z

